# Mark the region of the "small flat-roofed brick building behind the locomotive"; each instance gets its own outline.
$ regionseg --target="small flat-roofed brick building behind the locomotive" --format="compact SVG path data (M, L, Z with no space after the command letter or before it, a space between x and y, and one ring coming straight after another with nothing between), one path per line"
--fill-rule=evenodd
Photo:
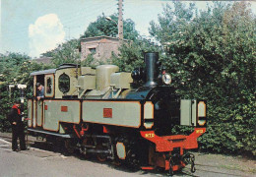
M124 42L128 40L124 39ZM85 60L89 54L93 54L98 61L106 62L111 57L111 53L119 53L119 39L109 36L95 36L81 39L81 60Z

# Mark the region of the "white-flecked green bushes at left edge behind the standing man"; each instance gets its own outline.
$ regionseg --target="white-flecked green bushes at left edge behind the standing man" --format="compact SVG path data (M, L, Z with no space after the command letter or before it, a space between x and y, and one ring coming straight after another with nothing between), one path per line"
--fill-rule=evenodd
M6 115L12 107L12 103L17 97L20 97L18 89L14 89L12 94L8 90L9 85L25 84L27 97L32 96L32 71L47 69L49 66L43 66L33 62L27 55L20 53L0 54L0 131L8 131L10 124ZM25 107L27 102L25 102Z

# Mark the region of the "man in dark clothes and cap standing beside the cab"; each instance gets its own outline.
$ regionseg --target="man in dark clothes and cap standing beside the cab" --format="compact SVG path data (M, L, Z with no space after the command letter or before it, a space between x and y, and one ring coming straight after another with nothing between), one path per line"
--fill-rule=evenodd
M11 109L11 112L9 114L9 121L12 125L12 131L13 131L12 149L14 151L19 150L18 143L17 143L18 138L20 140L21 150L27 149L25 144L25 133L24 133L25 125L22 121L20 106L21 106L21 100L18 99L15 101Z

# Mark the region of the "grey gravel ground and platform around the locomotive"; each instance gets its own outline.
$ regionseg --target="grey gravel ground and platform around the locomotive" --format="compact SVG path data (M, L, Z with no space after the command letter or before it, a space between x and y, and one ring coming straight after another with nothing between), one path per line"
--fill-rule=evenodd
M0 133L0 176L166 176L158 171L133 171L125 166L116 167L111 162L85 160L78 154L65 156L48 148L43 142L29 137L30 150L13 152L11 134ZM35 142L35 144L34 144ZM242 156L193 152L196 172L186 166L174 176L256 176L256 160ZM26 168L21 168L25 163ZM15 170L12 170L13 167ZM40 170L38 170L38 168Z

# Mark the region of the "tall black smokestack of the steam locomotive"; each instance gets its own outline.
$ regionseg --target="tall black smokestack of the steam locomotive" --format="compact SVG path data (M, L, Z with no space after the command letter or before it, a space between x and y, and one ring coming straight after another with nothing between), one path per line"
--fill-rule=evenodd
M155 87L158 85L157 79L159 74L158 68L159 53L145 53L144 62L146 63L146 87Z

